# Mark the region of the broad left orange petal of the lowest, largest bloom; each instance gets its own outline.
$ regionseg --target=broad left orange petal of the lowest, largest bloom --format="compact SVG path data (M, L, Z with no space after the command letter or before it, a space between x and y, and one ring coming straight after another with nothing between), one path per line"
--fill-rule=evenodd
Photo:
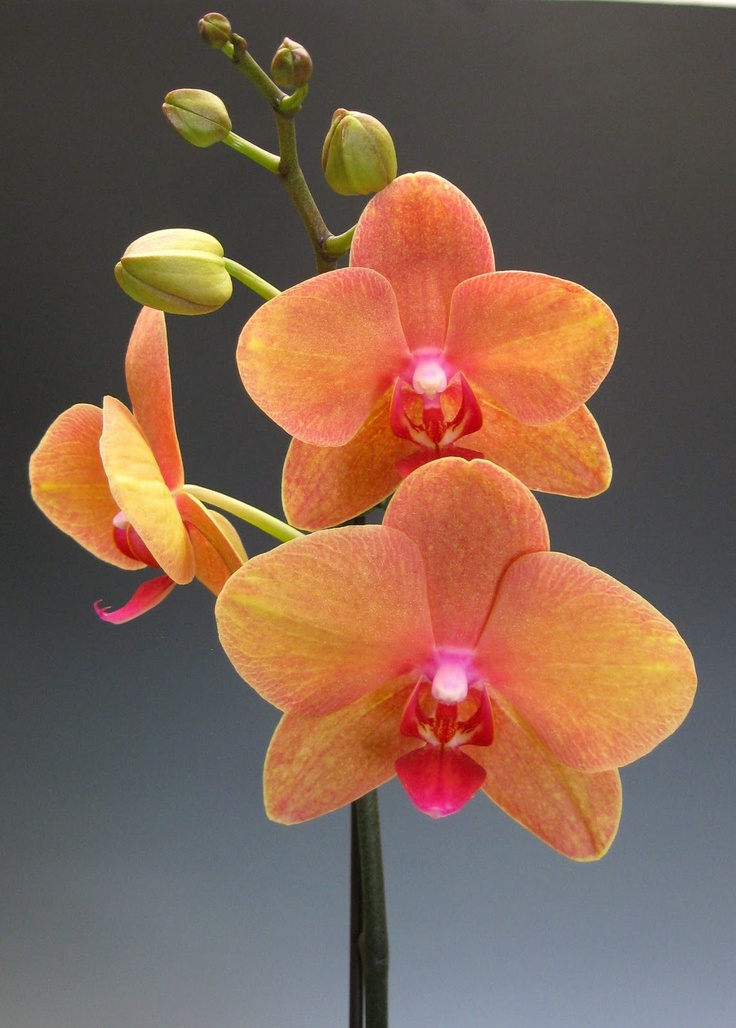
M216 607L237 672L284 710L321 714L426 662L424 568L402 533L335 528L248 561Z

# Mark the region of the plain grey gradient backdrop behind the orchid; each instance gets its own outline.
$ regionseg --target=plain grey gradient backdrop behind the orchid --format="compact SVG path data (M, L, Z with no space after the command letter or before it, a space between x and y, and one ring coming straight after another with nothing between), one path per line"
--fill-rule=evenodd
M685 726L623 772L611 853L579 866L477 798L433 822L381 791L394 1026L736 1024L733 232L736 11L639 4L231 3L267 64L283 35L317 74L302 160L335 231L319 150L335 107L383 120L485 218L501 268L602 296L619 355L591 404L608 493L542 497L553 546L641 592L700 673ZM3 5L4 488L0 1024L329 1028L346 1022L347 815L267 821L274 712L220 651L209 594L99 623L137 580L28 499L26 462L77 401L124 397L136 306L112 266L191 225L280 287L310 253L275 179L195 150L159 106L269 112L196 35L204 4ZM472 136L469 135L472 126ZM190 481L279 511L285 436L234 371L255 309L171 319ZM246 534L252 552L267 545Z

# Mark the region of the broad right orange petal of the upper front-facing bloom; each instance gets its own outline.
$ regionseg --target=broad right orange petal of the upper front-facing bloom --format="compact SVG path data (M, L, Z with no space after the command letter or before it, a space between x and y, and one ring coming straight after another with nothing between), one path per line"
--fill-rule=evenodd
M617 340L611 309L582 286L496 271L454 291L444 357L513 417L549 425L595 392Z

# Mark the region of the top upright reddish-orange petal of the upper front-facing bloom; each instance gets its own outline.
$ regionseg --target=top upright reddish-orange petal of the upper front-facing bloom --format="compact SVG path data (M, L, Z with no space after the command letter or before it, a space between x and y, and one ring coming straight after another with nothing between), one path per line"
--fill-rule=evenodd
M468 197L445 179L418 172L400 176L364 210L351 249L351 267L359 266L394 287L409 348L441 350L452 291L492 271L493 251Z

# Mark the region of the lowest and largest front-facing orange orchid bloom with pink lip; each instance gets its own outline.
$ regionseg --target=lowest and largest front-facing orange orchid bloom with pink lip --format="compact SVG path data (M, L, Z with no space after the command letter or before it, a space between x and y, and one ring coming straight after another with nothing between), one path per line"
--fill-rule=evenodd
M486 461L419 468L380 526L256 556L216 615L236 670L284 711L264 772L284 823L398 774L432 816L482 790L595 859L619 823L617 769L666 738L695 691L674 626L550 552L532 494Z

